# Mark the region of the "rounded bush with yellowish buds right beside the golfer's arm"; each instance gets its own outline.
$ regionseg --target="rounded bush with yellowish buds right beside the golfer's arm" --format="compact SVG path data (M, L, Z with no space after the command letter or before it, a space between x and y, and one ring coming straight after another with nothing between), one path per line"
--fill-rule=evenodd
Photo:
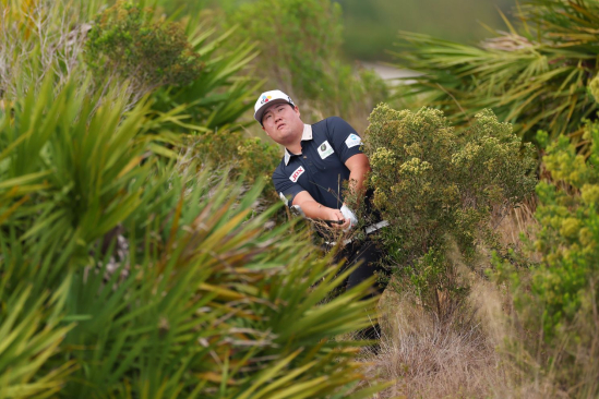
M380 105L370 117L364 153L373 205L391 227L383 241L390 261L423 303L440 312L440 292L458 300L453 243L466 258L477 244L494 244L492 217L529 195L536 179L530 145L491 111L457 133L439 110L416 113Z

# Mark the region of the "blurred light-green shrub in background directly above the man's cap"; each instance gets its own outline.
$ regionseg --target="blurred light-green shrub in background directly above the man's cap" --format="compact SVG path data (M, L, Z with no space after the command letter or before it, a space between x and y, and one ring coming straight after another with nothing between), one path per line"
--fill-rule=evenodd
M321 84L328 62L339 56L340 15L339 4L331 0L266 0L241 4L231 19L242 37L259 41L260 75L273 75L281 88L315 99L327 89Z

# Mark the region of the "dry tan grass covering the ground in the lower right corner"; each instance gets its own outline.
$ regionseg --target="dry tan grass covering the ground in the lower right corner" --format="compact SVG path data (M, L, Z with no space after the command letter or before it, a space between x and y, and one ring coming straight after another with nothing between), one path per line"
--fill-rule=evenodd
M576 319L562 343L548 348L540 334L523 336L511 295L480 278L463 312L445 323L386 292L381 350L362 361L368 382L395 384L373 398L597 398L599 311L595 291L587 294L592 309L580 315L590 317Z

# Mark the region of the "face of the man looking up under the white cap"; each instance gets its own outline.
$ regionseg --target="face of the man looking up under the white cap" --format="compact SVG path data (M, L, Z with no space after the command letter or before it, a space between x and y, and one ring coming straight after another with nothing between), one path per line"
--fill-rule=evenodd
M278 144L292 144L303 133L298 107L275 104L262 117L262 129Z

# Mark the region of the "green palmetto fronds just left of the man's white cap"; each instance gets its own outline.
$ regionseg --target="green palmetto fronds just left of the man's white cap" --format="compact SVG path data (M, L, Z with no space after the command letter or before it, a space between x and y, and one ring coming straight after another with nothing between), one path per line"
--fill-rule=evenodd
M187 23L189 40L204 68L202 74L184 86L164 86L153 94L153 109L169 119L170 131L195 134L212 131L239 131L239 122L254 104L256 78L245 74L256 57L255 46L235 41L236 28L219 35L211 13L200 13Z

